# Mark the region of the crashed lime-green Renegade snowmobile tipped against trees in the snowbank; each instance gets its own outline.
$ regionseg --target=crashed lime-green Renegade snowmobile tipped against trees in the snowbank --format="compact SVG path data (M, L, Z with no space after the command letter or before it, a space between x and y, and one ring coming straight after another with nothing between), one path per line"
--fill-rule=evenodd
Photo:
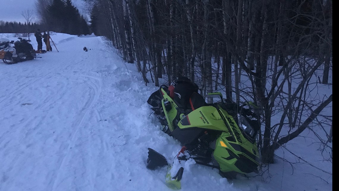
M237 173L258 173L256 138L260 127L256 106L252 102L239 106L223 99L220 92L207 96L217 96L221 100L207 104L200 94L193 92L187 107L172 99L168 87L162 85L147 103L153 107L163 131L176 138L188 152L188 158L178 157L179 160L193 158L198 164L218 168L220 175L226 178L235 178ZM167 164L158 152L148 150L148 169ZM183 169L179 171L176 177L181 179ZM180 189L180 179L174 180L174 184L179 184L176 189Z

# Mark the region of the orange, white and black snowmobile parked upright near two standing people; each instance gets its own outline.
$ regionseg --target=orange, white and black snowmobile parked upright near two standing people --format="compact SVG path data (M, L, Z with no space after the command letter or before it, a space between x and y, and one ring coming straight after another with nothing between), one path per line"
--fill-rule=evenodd
M0 59L2 59L5 64L15 64L36 58L35 50L33 46L29 44L31 40L18 39L19 40L15 42L14 40L0 39Z

